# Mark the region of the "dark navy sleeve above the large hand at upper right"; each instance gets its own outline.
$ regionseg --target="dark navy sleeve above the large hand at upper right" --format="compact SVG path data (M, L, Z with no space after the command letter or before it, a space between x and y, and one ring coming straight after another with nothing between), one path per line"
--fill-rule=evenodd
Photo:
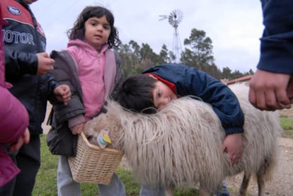
M262 0L263 37L258 69L293 74L293 1Z

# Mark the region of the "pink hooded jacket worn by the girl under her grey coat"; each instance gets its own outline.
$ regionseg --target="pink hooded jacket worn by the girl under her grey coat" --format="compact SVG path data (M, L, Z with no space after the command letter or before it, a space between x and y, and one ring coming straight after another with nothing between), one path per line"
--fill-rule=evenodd
M116 63L113 57L105 58L108 45L104 45L100 54L91 45L81 40L70 40L67 50L76 61L79 81L82 89L86 120L96 115L105 103L109 92L113 91ZM109 62L110 61L110 62ZM107 64L107 67L105 65Z

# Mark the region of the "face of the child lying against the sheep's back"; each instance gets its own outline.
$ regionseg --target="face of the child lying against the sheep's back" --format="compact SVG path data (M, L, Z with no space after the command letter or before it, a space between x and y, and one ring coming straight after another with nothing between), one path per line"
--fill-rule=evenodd
M173 93L171 88L162 81L156 81L153 91L154 105L156 108L161 109L163 106L176 99L177 95Z

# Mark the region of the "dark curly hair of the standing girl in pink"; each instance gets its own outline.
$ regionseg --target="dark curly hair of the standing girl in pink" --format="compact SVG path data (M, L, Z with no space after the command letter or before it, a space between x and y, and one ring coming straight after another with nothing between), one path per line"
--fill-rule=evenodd
M120 45L120 39L118 37L118 30L114 26L114 16L107 8L103 8L102 6L86 6L83 11L79 14L76 21L74 22L74 27L67 31L67 35L69 40L79 39L84 40L84 23L91 17L103 17L107 18L108 23L111 27L111 33L108 38L107 44L109 48L117 47Z

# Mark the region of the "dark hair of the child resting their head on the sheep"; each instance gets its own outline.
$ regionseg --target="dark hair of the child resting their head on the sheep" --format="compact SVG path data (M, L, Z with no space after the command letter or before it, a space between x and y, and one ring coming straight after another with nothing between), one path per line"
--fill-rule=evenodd
M117 102L136 113L156 113L153 91L157 79L146 74L134 74L123 81Z

